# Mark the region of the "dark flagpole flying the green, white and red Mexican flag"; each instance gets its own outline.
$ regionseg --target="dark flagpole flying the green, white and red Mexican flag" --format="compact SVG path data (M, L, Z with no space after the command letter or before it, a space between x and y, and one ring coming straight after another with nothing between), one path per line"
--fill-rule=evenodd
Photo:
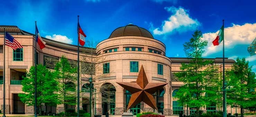
M224 20L223 22L223 117L227 117L227 107L226 107L226 86L225 86L225 43L224 43Z

